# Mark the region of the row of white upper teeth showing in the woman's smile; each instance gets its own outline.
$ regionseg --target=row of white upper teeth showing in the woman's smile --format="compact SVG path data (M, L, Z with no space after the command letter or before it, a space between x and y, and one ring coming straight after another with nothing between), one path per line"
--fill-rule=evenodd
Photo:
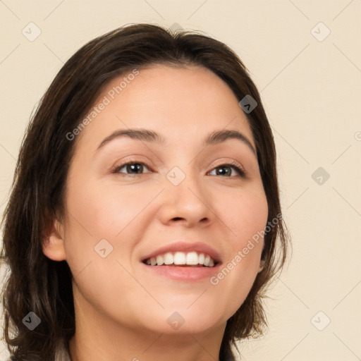
M149 266L161 266L162 264L187 264L189 266L196 266L197 264L205 267L214 267L214 259L204 253L192 252L167 252L164 255L148 258L145 261Z

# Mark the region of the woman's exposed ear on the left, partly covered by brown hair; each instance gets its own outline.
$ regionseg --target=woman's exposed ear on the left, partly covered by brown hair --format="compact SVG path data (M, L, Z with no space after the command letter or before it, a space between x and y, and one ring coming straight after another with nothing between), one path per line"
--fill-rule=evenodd
M64 229L59 221L55 220L51 224L42 243L42 252L53 261L63 261L66 259Z

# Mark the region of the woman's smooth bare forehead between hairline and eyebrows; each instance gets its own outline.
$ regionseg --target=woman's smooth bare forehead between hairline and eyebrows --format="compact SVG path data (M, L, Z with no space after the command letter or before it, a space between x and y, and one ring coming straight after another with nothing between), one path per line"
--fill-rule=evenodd
M152 129L172 142L196 142L214 130L239 130L254 145L235 94L200 66L156 65L123 73L104 87L88 118L78 135L80 146L87 140L88 150L114 130L127 128Z

